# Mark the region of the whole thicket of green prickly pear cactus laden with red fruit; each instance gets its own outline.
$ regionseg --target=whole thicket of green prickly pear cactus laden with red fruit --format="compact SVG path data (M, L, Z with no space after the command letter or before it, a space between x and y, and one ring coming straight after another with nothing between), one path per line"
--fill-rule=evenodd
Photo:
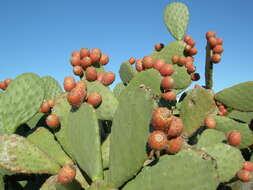
M186 91L199 79L188 20L169 4L176 41L123 62L113 91L97 48L72 53L80 81L66 77L65 91L33 73L0 82L0 189L253 189L253 81L213 92L223 42L209 31L206 84Z

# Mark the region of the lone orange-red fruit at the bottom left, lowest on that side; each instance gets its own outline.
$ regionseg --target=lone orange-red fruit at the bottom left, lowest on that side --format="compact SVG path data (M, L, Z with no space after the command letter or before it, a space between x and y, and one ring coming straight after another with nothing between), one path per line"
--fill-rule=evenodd
M57 181L60 184L72 182L76 177L76 169L72 165L64 165L58 172Z

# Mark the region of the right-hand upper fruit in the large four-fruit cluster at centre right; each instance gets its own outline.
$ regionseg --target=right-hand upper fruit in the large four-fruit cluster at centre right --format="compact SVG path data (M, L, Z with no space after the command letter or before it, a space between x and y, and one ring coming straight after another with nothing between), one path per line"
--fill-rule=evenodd
M184 129L184 124L181 118L173 116L170 127L168 129L168 137L177 137L179 136Z

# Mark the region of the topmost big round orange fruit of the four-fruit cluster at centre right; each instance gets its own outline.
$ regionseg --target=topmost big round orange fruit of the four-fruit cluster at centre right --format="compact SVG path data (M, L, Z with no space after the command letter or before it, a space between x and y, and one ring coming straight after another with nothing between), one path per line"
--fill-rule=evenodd
M166 107L156 108L152 113L152 126L156 130L165 130L170 126L172 113Z

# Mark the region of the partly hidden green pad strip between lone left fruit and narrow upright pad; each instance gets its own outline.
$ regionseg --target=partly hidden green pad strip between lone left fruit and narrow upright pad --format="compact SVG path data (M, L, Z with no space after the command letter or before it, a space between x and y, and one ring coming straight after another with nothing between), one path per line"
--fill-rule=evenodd
M67 139L67 127L68 127L68 114L71 110L67 98L67 94L63 94L56 100L56 105L52 109L52 113L56 114L59 117L61 128L59 131L55 132L57 140L60 142L63 149L69 154L71 154L71 148L69 141Z

